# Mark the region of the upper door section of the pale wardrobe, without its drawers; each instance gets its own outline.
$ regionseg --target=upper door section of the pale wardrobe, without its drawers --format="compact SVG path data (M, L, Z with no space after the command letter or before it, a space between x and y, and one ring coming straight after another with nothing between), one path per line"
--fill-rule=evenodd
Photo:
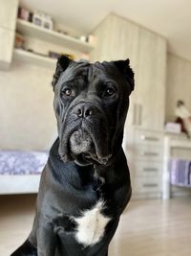
M166 40L116 14L99 24L93 60L130 58L135 91L130 98L128 125L160 129L164 123Z

